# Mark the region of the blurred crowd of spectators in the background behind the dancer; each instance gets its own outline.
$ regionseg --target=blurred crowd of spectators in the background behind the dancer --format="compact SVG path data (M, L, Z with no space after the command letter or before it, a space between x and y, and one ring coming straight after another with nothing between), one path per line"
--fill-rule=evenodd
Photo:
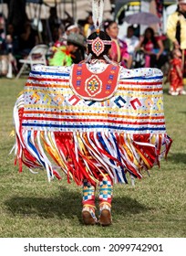
M179 1L177 12L182 11L181 5L186 6L186 1ZM111 15L110 19L103 21L102 26L112 39L109 59L119 62L123 67L158 68L169 81L172 65L176 63L182 69L182 62L172 62L172 59L181 59L182 55L179 54L179 43L176 47L170 36L156 35L151 27L147 27L143 35L139 35L139 27L130 25L125 35L119 31L119 25ZM5 17L0 15L0 76L13 78L21 67L19 59L26 59L32 48L41 43L48 46L47 65L69 66L78 63L86 58L86 38L93 31L92 13L88 13L83 24L76 24L72 18L62 22L57 17L55 8L51 8L47 25L42 32L39 32L38 24L27 19L19 34L15 33L14 25L6 24ZM175 68L175 72L177 69ZM170 94L184 94L183 88L181 91L175 90L177 89L171 88Z

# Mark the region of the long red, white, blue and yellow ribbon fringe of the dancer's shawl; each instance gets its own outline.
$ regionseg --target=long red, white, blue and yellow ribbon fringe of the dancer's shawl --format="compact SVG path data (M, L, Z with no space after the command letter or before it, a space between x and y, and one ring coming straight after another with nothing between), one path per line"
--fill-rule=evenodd
M160 158L167 155L171 138L166 133L67 133L28 131L22 126L23 95L14 109L16 144L15 155L22 171L22 164L45 168L48 180L57 176L58 170L82 185L87 179L92 185L98 182L99 174L107 173L114 183L128 183L126 173L138 178L142 171L159 165ZM16 162L15 162L16 163Z

